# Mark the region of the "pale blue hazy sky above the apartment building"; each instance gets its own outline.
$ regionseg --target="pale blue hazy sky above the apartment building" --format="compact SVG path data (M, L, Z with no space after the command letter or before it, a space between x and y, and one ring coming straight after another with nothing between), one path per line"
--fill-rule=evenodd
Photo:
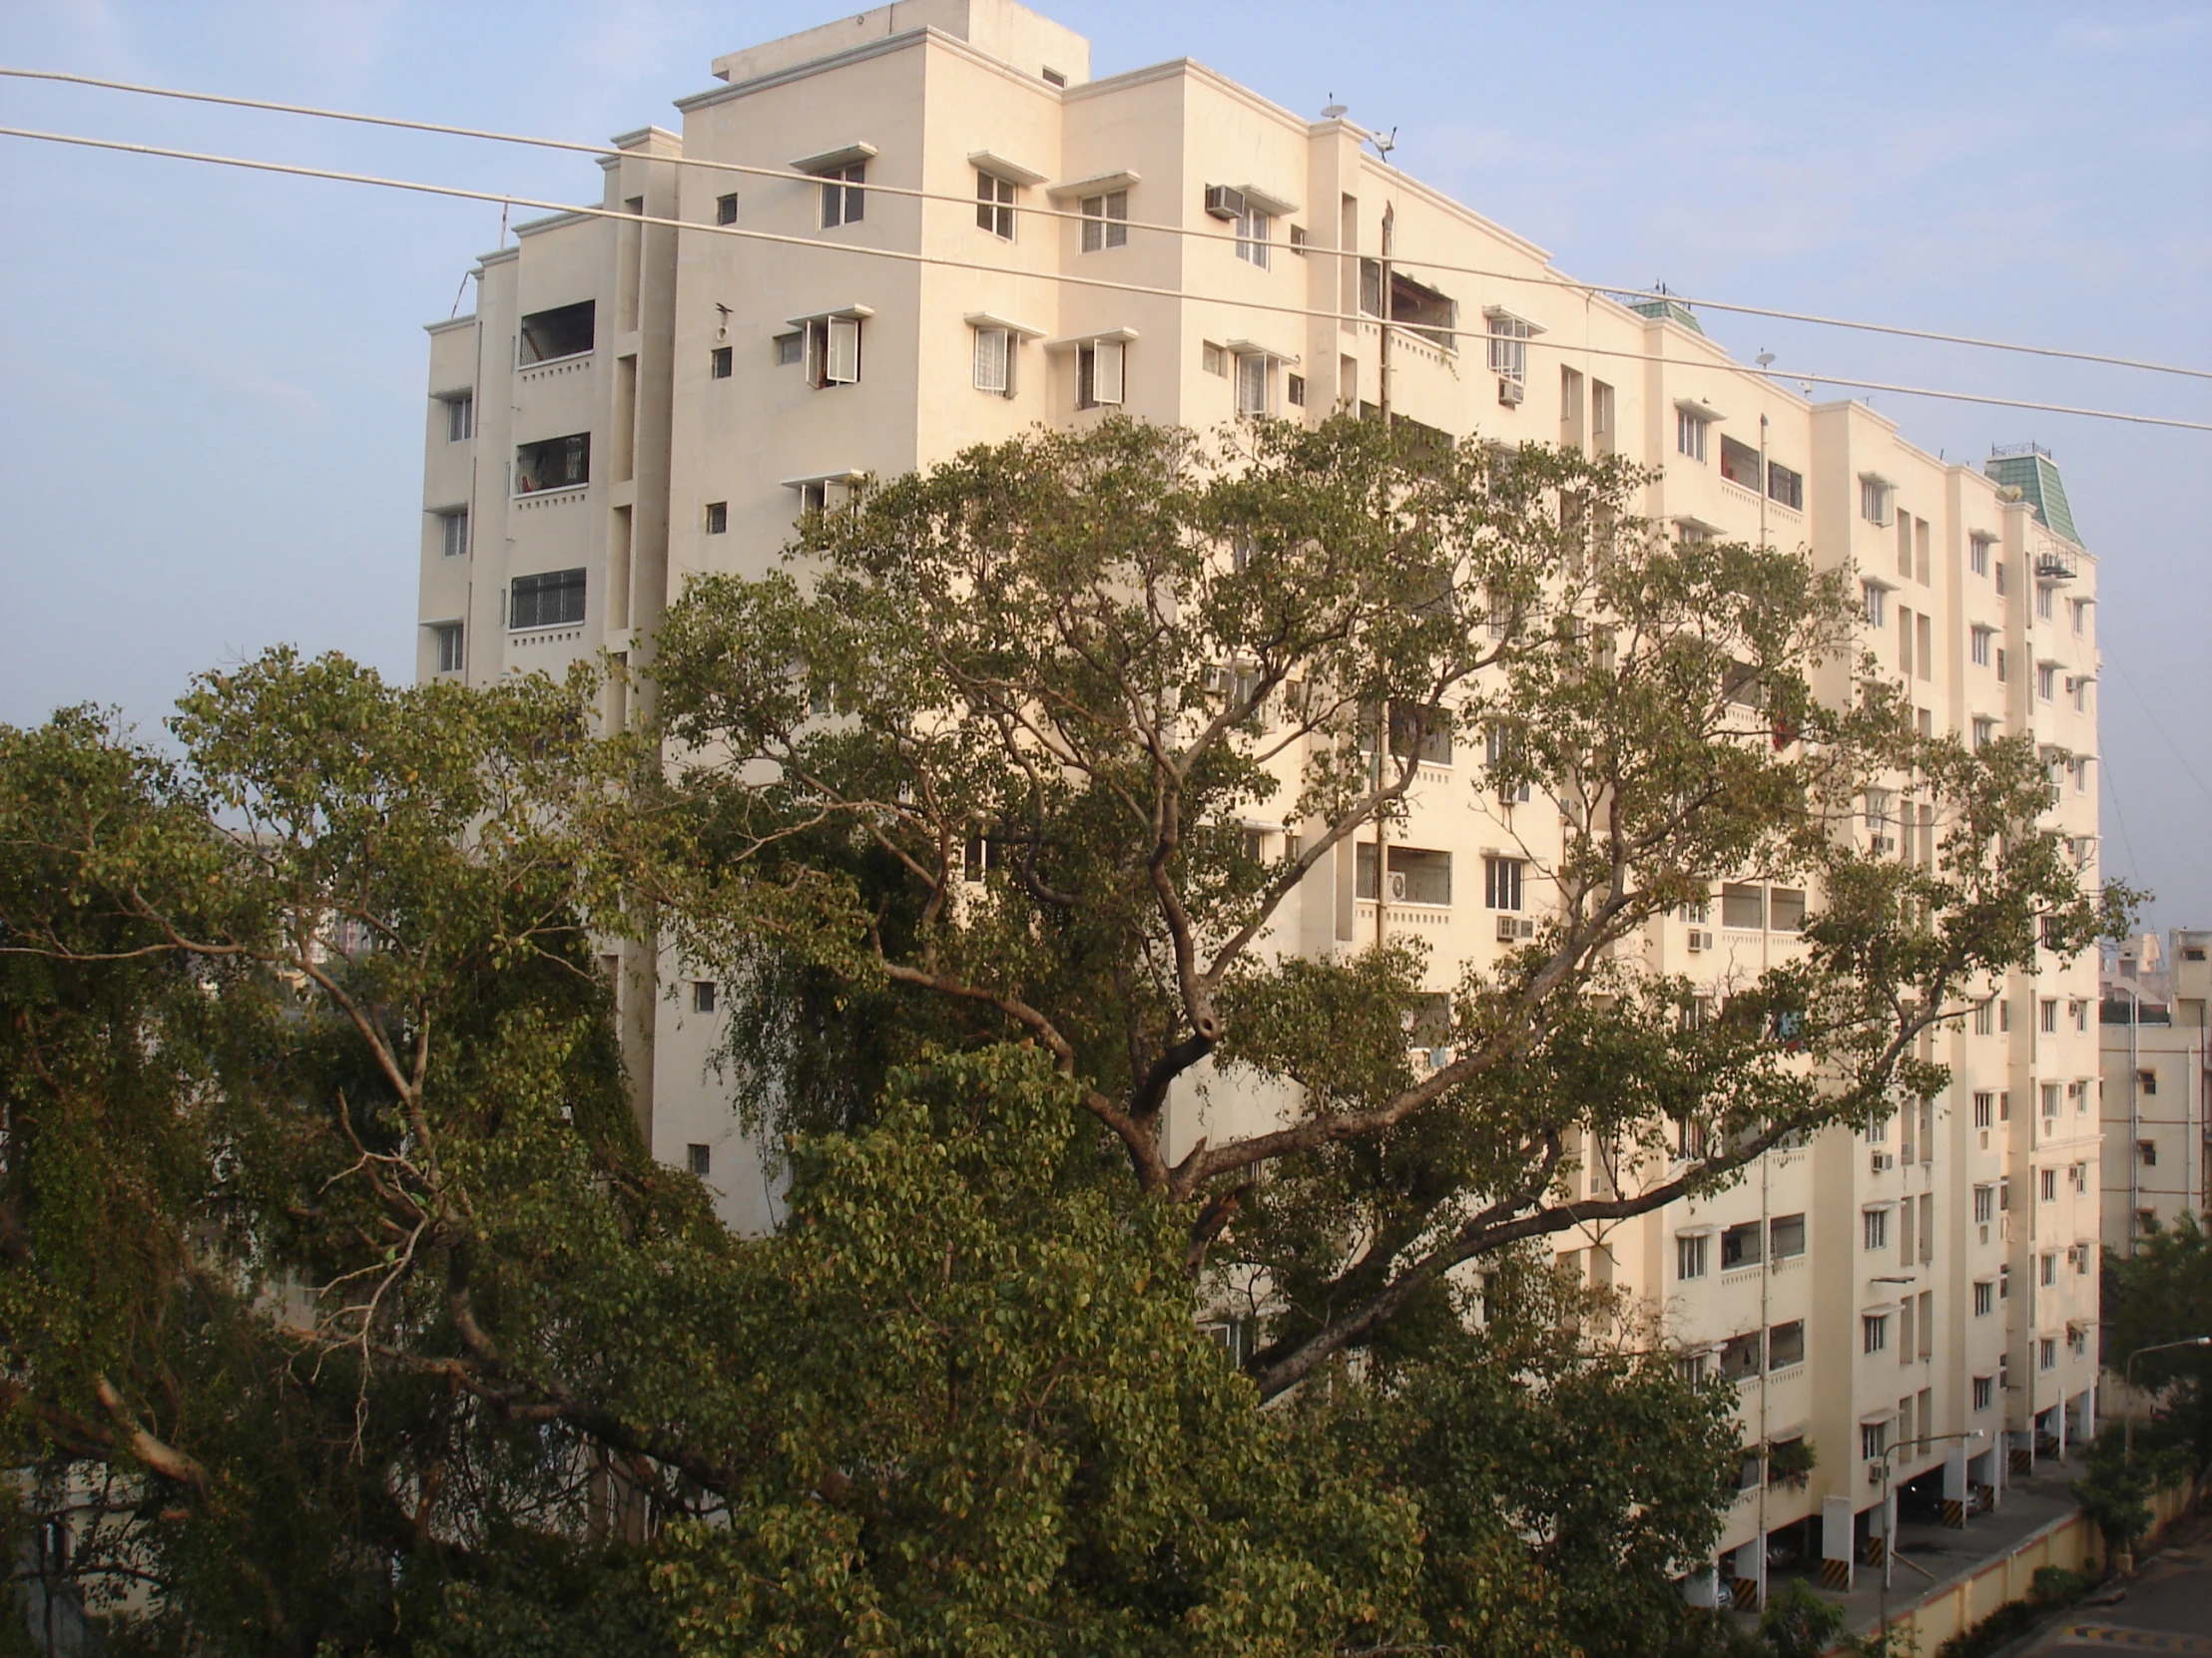
M1398 128L1590 281L2212 367L2212 7L1044 7ZM814 0L0 0L0 62L599 141ZM597 199L586 157L0 80L0 124ZM425 338L500 210L0 139L0 721L272 641L407 674ZM1708 314L1750 358L2212 420L2212 382ZM2039 440L2101 557L2106 871L2212 924L2212 433L1874 398Z

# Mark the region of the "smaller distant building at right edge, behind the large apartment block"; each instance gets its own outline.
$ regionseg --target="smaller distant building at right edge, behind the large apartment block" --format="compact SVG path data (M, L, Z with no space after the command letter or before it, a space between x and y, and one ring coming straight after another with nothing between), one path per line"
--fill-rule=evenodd
M2143 933L2104 973L2104 1238L2132 1253L2150 1225L2205 1214L2205 1048L2212 931Z

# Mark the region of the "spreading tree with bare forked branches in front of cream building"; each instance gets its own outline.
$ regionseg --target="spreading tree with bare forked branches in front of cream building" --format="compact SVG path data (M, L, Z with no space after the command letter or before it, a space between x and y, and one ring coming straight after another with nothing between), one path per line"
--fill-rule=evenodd
M641 884L739 993L732 1068L787 1121L849 1121L867 1077L825 1052L1037 1041L1133 1183L1190 1209L1192 1265L1259 1295L1270 1397L1449 1320L1455 1267L1938 1090L1924 1032L2097 933L2048 776L2024 738L1911 730L1847 568L1668 539L1644 484L1407 422L1108 420L874 486L810 515L790 568L692 584L659 634L684 763ZM1513 802L1544 820L1546 904L1440 1015L1418 946L1314 957L1276 928L1438 791L1447 747L1504 833ZM1867 787L1936 833L1863 851ZM1741 878L1816 893L1805 948L1686 1019L1697 986L1639 937ZM1444 1063L1413 1063L1416 1019ZM1201 1079L1287 1108L1170 1150Z

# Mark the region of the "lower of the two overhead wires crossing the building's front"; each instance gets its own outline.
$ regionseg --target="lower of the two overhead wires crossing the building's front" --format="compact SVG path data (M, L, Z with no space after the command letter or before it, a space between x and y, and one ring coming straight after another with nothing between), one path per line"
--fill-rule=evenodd
M568 214L568 217L577 217L577 219L615 219L615 221L633 223L633 225L666 225L670 230L692 232L692 234L737 237L741 241L765 241L765 243L785 245L785 248L816 248L816 250L823 250L823 252L863 254L867 259L896 259L896 261L911 263L911 265L940 265L940 267L947 267L947 270L973 270L973 272L984 272L989 276L1011 276L1011 279L1020 279L1020 281L1055 281L1055 283L1071 283L1071 285L1077 285L1077 287L1099 287L1099 290L1108 290L1108 292L1117 292L1117 294L1141 294L1141 296L1148 296L1148 298L1172 298L1172 301L1181 301L1181 303L1190 303L1190 305L1223 305L1223 307L1237 307L1237 309L1248 309L1248 312L1274 312L1274 314L1281 314L1281 316L1325 318L1325 321L1334 321L1334 323L1369 323L1369 325L1378 325L1378 327L1398 329L1400 334L1409 334L1409 332L1411 334L1429 334L1429 336L1433 336L1433 334L1451 334L1455 338L1467 336L1467 338L1473 338L1478 343L1489 338L1489 334L1478 334L1473 329L1438 329L1438 327L1427 327L1427 325L1416 327L1411 323L1385 321L1380 316L1369 316L1365 312L1334 312L1334 309L1321 309L1321 307L1314 307L1314 305L1283 305L1283 303L1270 303L1270 301L1256 301L1256 298L1232 298L1232 296L1225 296L1225 294L1192 294L1192 292L1186 292L1181 287L1157 287L1157 285L1150 285L1150 283L1117 283L1117 281L1110 281L1106 276L1079 276L1079 274L1073 274L1073 272L1011 270L1006 265L984 265L984 263L973 261L973 259L951 259L947 254L922 254L922 252L909 252L905 248L867 248L865 243L823 241L821 237L792 237L792 234L783 234L783 232L774 232L774 230L748 230L743 225L708 225L708 223L695 223L695 221L688 221L688 219L664 219L664 217L657 217L657 214L650 214L650 212L626 212L626 210L615 210L615 208L571 206L566 201L542 201L542 199L535 199L535 197L522 197L522 195L513 195L513 192L504 192L504 190L467 190L467 188L456 186L456 183L427 183L427 181L420 181L420 179L385 179L385 177L378 177L374 172L341 172L336 168L312 168L312 166L301 166L296 161L257 161L252 157L239 157L239 155L210 155L210 153L204 153L204 150L175 150L175 148L168 148L168 146L161 146L161 144L133 144L133 141L124 141L124 139L84 137L84 135L77 135L77 133L40 133L40 130L24 128L24 126L0 126L0 137L35 139L35 141L42 141L42 144L71 144L71 146L77 146L77 148L115 150L115 153L122 153L122 155L155 155L155 157L164 157L164 159L170 159L170 161L201 161L206 166L243 168L248 172L279 172L279 175L294 177L294 179L332 179L336 183L367 183L367 186L376 186L376 188L383 188L383 190L411 190L416 195L447 197L447 199L456 199L456 201L498 201L498 203L511 206L511 208L538 208L542 212ZM805 177L805 175L801 175L801 177ZM872 190L874 186L856 186L856 188ZM1546 351L1564 351L1564 354L1579 354L1579 356L1604 356L1604 358L1624 358L1624 360L1630 360L1630 363L1672 363L1672 365L1686 365L1688 363L1688 358L1674 358L1674 356L1650 354L1650 351L1619 351L1619 349L1610 349L1610 347L1604 347L1604 345L1577 345L1573 340L1522 338L1517 343L1524 345L1524 347L1533 345L1533 347L1546 349ZM1298 360L1294 354L1287 354L1287 351L1281 351L1276 356L1281 360L1285 360L1285 363L1296 363ZM1818 385L1843 385L1843 387L1858 387L1858 389L1871 389L1871 391L1896 391L1896 393L1916 396L1916 398L1942 398L1942 400L1951 400L1951 402L1982 402L1982 405L1993 405L1993 407L2000 407L2000 409L2035 409L2035 411L2042 411L2042 413L2081 416L2086 420L2124 420L2124 422L2139 424L2139 427L2177 427L2181 431L2212 431L2212 422L2205 422L2205 420L2174 420L2170 416L2128 413L2128 411L2121 411L2121 409L2084 409L2084 407L2075 407L2075 405L2066 405L2066 402L2028 402L2024 398L1995 398L1995 396L1984 396L1984 393L1975 393L1975 391L1940 391L1936 387L1902 387L1902 385L1887 385L1887 382L1878 382L1878 380L1851 380L1851 378L1832 376L1832 374L1809 374L1809 371L1803 371L1803 369L1776 369L1776 367L1745 369L1741 363L1730 363L1730 367L1734 367L1734 369L1739 369L1743 374L1765 374L1767 378L1774 378L1774 380L1812 380L1812 382L1818 382Z

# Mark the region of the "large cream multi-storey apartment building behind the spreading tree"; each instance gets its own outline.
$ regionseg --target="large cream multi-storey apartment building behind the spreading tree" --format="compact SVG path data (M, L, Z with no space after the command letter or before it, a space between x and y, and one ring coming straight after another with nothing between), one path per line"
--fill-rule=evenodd
M1922 727L2031 732L2097 880L2095 559L2046 453L1947 464L1865 405L1734 363L1674 301L1568 285L1340 108L1294 115L1190 60L1093 80L1088 42L1011 0L900 0L712 73L677 102L681 133L604 161L606 210L677 225L522 225L482 261L476 314L431 327L422 676L602 650L650 670L688 577L765 570L805 506L1037 422L1210 429L1387 396L1451 436L1659 466L1644 511L1674 535L1851 566L1865 643ZM613 688L606 718L648 694L648 672ZM1524 937L1555 829L1515 822L1478 769L1425 763L1398 844L1380 864L1343 847L1274 946L1407 931L1444 990ZM1938 829L1898 780L1858 833L1929 860ZM1794 951L1816 906L1725 884L1644 948L1723 984ZM719 988L666 955L608 968L655 1154L706 1176L732 1225L770 1225L708 1070ZM1559 1240L1646 1300L1686 1364L1736 1379L1750 1452L1717 1565L1754 1596L1790 1556L1845 1581L1887 1534L1885 1492L1936 1490L1964 1523L2015 1463L2093 1428L2095 999L2093 962L2044 955L1929 1039L1942 1096ZM1270 1110L1179 1096L1170 1150Z

